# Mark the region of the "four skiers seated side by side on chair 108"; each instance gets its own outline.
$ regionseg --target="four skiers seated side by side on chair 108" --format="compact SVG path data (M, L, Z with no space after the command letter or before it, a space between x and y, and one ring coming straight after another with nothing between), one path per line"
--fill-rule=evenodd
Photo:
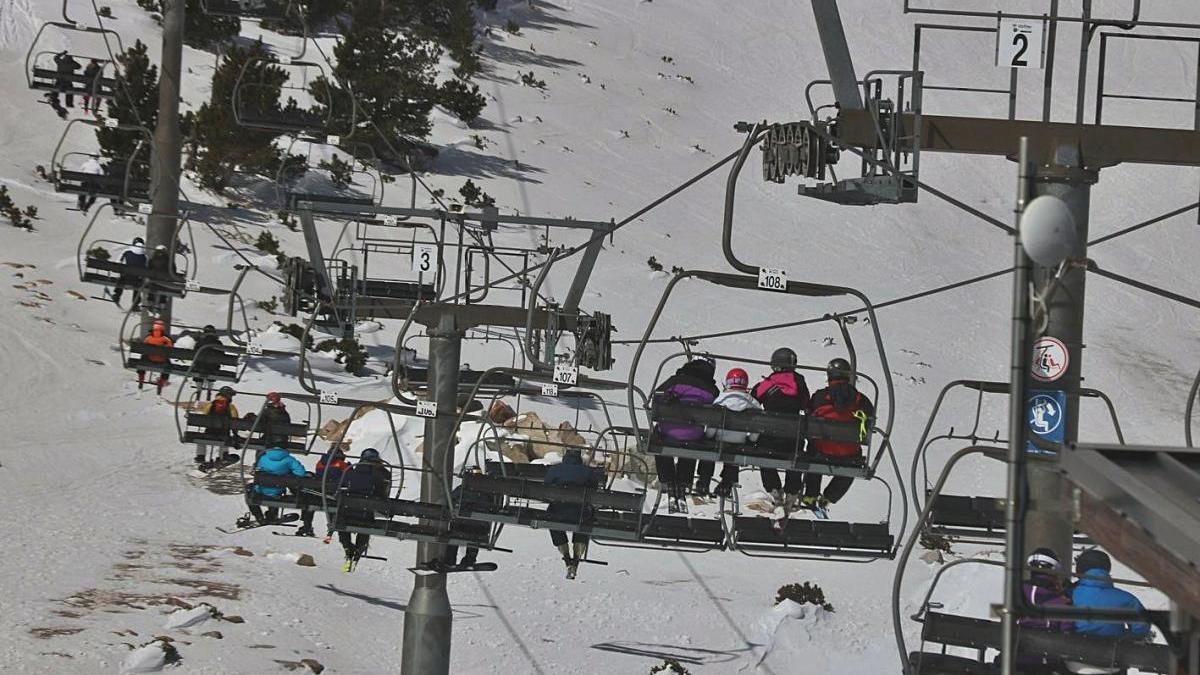
M854 387L854 372L850 362L835 358L826 369L826 387L809 395L804 375L798 371L796 352L780 347L770 356L770 374L757 384L750 387L749 374L733 368L725 375L724 390L718 390L714 381L716 364L708 358L696 358L680 366L674 375L664 381L655 396L661 400L689 405L715 405L730 411L762 410L784 414L805 414L810 418L830 422L851 423L860 429L860 440L865 440L870 420L875 417L871 401ZM715 440L722 444L755 446L791 456L805 453L835 461L853 461L862 456L860 443L832 441L826 438L809 440L800 436L772 436L712 429L695 424L659 423L654 434L676 443L698 443ZM659 484L668 495L671 510L686 510L685 495L690 492L700 497L730 497L738 480L738 466L726 464L721 470L720 482L709 490L715 462L686 458L659 455L655 458ZM692 486L692 477L696 482ZM853 483L848 477L834 477L822 490L822 474L817 472L785 471L780 479L773 468L760 468L762 486L776 507L785 512L796 508L808 508L823 512L829 504L841 500Z

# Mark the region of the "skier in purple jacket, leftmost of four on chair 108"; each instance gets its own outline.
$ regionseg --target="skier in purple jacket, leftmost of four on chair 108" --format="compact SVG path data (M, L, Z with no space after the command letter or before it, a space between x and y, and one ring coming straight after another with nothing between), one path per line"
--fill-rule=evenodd
M712 404L720 392L713 375L716 372L716 364L710 359L696 358L679 368L666 381L654 390L654 396L662 401L678 401L691 405ZM692 443L704 437L704 428L695 424L676 424L664 422L655 425L654 432L666 438L668 442ZM670 510L686 510L684 491L691 485L692 474L696 471L696 460L676 459L659 455L654 458L654 465L659 473L660 489L665 489L670 495Z

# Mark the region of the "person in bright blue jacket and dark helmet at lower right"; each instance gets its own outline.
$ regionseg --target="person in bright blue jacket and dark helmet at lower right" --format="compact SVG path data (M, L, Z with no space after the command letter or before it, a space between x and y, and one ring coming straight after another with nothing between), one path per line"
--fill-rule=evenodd
M1070 603L1080 608L1093 609L1136 609L1145 610L1133 593L1112 585L1112 558L1099 549L1087 549L1075 558L1075 575L1079 581L1070 591ZM1075 621L1075 632L1084 635L1103 635L1105 638L1150 638L1148 623L1109 623L1098 621ZM1124 673L1122 668L1108 664L1086 664L1075 661L1067 662L1070 673Z

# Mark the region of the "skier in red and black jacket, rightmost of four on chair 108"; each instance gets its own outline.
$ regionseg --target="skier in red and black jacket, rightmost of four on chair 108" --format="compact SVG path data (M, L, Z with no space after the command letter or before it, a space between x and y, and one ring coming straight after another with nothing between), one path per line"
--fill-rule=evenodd
M875 406L851 383L854 371L850 362L836 358L826 368L828 386L817 389L809 401L809 416L814 419L829 422L857 422L859 441L866 440L870 422L875 417ZM862 456L863 448L858 443L812 440L812 450L821 456L834 460L848 460ZM829 504L838 503L850 485L854 482L847 476L835 476L829 480L824 492L821 491L821 474L810 472L804 477L804 498L800 506L824 510Z

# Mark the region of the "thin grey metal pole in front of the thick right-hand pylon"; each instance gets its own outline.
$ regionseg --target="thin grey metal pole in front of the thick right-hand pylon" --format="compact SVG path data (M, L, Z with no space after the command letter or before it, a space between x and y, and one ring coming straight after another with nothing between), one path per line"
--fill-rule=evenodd
M1008 400L1008 501L1004 509L1004 613L1002 616L1001 674L1016 673L1016 608L1021 593L1021 504L1025 480L1025 399L1030 371L1030 271L1033 263L1021 245L1021 214L1031 195L1030 139L1021 137L1018 153L1016 234L1013 237L1013 334Z

